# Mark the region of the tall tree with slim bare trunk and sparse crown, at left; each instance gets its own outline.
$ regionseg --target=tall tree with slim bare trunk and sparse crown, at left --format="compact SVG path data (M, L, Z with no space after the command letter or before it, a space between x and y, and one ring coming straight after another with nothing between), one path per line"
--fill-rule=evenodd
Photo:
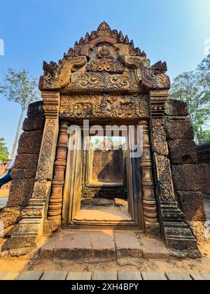
M37 78L29 76L29 72L25 69L22 69L21 71L8 69L7 73L4 75L3 83L0 84L0 94L6 97L8 101L20 104L21 107L20 120L11 158L15 155L25 110L29 104L41 99L37 85Z

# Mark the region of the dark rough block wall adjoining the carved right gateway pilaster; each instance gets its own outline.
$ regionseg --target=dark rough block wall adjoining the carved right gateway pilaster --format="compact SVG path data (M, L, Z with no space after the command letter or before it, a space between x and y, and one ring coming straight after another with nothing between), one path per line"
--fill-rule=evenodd
M184 102L169 100L166 115L167 141L175 194L195 237L198 241L202 241L206 215L203 195L200 191L200 172L193 126Z

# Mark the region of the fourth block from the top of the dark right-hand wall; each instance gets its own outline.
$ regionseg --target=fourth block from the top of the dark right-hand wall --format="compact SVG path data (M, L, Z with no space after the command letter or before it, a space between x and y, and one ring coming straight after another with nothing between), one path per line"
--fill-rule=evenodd
M172 165L176 191L200 191L197 165Z

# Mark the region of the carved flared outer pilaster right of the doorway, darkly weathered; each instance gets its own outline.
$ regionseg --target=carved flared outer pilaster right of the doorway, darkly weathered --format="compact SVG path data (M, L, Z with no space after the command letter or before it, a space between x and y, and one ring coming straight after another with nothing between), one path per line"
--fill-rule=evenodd
M183 213L179 209L174 195L174 183L165 133L165 102L168 99L168 90L151 90L149 96L153 160L162 234L168 247L181 250L197 249L197 241L185 223Z

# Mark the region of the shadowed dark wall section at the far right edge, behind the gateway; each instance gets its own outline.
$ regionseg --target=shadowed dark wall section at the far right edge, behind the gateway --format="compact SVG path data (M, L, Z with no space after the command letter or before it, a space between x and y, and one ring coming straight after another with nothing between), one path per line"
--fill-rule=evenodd
M210 142L197 146L197 158L201 191L210 199Z

